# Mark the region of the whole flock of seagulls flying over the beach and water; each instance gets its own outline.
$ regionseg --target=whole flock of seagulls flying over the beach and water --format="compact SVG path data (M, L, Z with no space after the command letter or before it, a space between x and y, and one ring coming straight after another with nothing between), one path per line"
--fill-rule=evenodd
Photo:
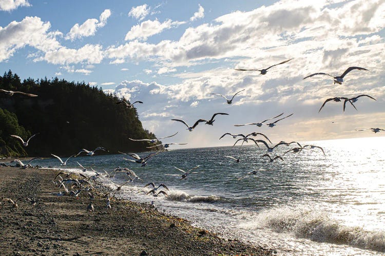
M270 66L270 67L268 67L266 69L260 69L260 70L259 69L235 69L235 70L237 70L237 71L259 71L261 75L265 75L270 68L278 66L278 65L282 65L282 64L284 64L284 63L286 63L288 61L291 61L291 60L292 59L288 59L288 60L282 61L282 62L280 62L278 64L275 64L273 66ZM333 77L334 84L335 83L342 84L343 78L345 77L345 75L347 75L352 70L367 70L367 69L360 68L360 67L349 67L340 76L333 76L333 75L330 75L330 74L327 74L327 73L314 73L314 74L311 74L309 76L304 77L303 79L306 79L306 78L309 78L309 77L313 77L313 76L316 76L316 75L327 75L327 76ZM228 99L226 96L224 96L222 94L217 94L217 93L210 93L209 95L221 96L221 97L223 97L226 100L227 104L232 104L235 96L237 94L243 92L243 91L245 91L245 89L236 92L233 95L233 97L230 98L230 99ZM5 90L0 90L0 92L6 93L9 96L12 96L14 94L21 94L21 95L30 96L30 97L36 97L37 96L37 95L34 95L34 94L27 94L27 93L23 93L23 92L12 92L12 91L5 91ZM320 112L322 110L322 108L325 106L325 104L330 102L330 101L335 101L335 102L342 102L343 101L343 111L345 111L346 103L347 102L349 102L354 107L354 109L356 109L356 106L353 103L357 102L357 100L360 97L369 97L369 98L371 98L373 100L376 100L375 98L373 98L372 96L367 95L367 94L361 94L361 95L358 95L358 96L352 97L352 98L349 98L349 97L333 97L333 98L328 98L328 99L326 99L323 102L323 104L322 104L322 106L321 106L321 108L319 109L318 112ZM133 106L134 104L136 104L136 103L143 103L143 102L142 101L134 101L133 103L129 103L126 100L121 100L119 102L116 102L116 104L122 104L122 103L125 104L127 109L133 109L134 108L134 106ZM260 122L245 123L245 124L235 124L234 126L256 125L257 127L262 127L263 125L266 125L267 127L271 127L272 128L272 127L276 126L279 121L281 121L283 119L286 119L288 117L291 117L294 113L292 113L290 115L287 115L287 116L284 116L284 117L281 117L281 116L283 116L283 114L284 113L281 113L281 114L279 114L277 116L265 119L265 120L260 121ZM211 116L211 118L209 120L198 119L191 126L186 121L184 121L182 119L171 119L171 120L183 123L187 127L186 130L188 130L189 132L192 132L198 126L199 123L204 122L205 124L213 125L215 120L216 120L215 118L217 116L219 116L219 115L229 115L229 114L221 113L221 112L220 113L215 113L215 114L213 114L213 116ZM380 131L385 131L384 129L380 129L380 128L368 128L368 129L362 129L362 130L356 130L356 131L365 131L365 130L371 130L374 133L378 133ZM128 138L128 139L131 140L131 141L143 141L143 142L147 142L149 144L152 144L152 145L147 146L147 148L157 148L158 150L167 150L167 148L170 145L175 145L175 144L177 144L177 145L185 145L185 144L187 144L187 143L161 143L161 144L158 144L158 143L160 143L161 139L166 139L166 138L168 139L168 138L174 137L177 134L178 134L178 132L175 133L175 134L169 135L169 136L165 136L165 137L161 137L161 138L156 138L156 139L141 139L141 138L139 138L139 139ZM23 138L21 138L18 135L11 135L11 136L14 137L14 138L19 139L22 142L23 146L28 146L29 141L34 136L36 136L36 135L38 135L38 133L32 135L30 138L28 138L28 140L26 142L23 140ZM240 134L236 134L236 133L233 134L233 133L226 132L225 134L223 134L219 138L219 140L224 138L226 135L229 135L233 139L236 139L236 141L235 141L233 146L235 146L238 142L241 142L241 146L243 146L245 142L246 143L254 142L255 145L258 146L258 147L260 147L260 145L264 146L266 151L267 151L267 153L264 153L261 156L261 159L267 159L270 163L274 163L277 160L284 161L283 156L285 156L286 154L289 154L289 153L290 154L298 154L298 153L300 153L300 152L302 152L304 150L309 150L309 151L313 151L313 152L316 152L317 150L320 150L322 152L322 154L324 155L324 157L326 157L323 148L320 147L320 146L317 146L317 145L304 145L304 146L302 146L299 142L296 142L296 141L292 141L292 142L280 141L277 144L273 144L272 141L265 134L260 133L260 132L253 132L253 133L249 133L247 135L244 135L242 133L240 133ZM263 139L252 138L252 137L256 137L256 136L261 136L261 137L263 137ZM285 151L281 156L279 156L279 155L275 155L274 156L274 155L268 154L268 153L274 153L274 150L276 148L278 148L278 147L284 147L284 146L288 147L288 146L290 146L292 144L295 144L295 147L292 147L289 150ZM89 151L89 150L86 150L85 148L83 148L79 153L71 155L65 161L63 161L59 156L56 156L54 154L51 154L51 155L53 157L57 158L60 161L60 164L62 166L65 166L67 164L67 161L70 158L72 158L72 157L75 158L75 157L81 155L82 153L85 153L87 156L93 156L95 154L95 152L97 152L97 151L108 152L108 150L106 148L102 147L102 146L95 148L93 151ZM126 157L123 157L123 159L128 161L128 162L139 164L140 166L146 166L148 161L152 157L155 157L156 155L158 155L160 152L161 151L157 151L155 153L149 153L149 154L147 154L145 156L139 156L136 153L122 153L122 152L118 152L118 153L124 154ZM239 157L234 157L234 156L224 156L224 157L228 158L228 159L232 159L236 163L239 163L241 161L241 157L242 157L243 153L244 153L244 150L240 153ZM41 158L33 158L27 164L23 164L18 159L13 160L12 162L17 162L18 164L20 164L20 166L22 168L28 168L28 167L30 167L30 163L32 161L34 161L35 159L41 159ZM98 179L113 178L115 176L115 174L117 174L119 172L125 172L127 174L128 180L124 181L122 184L115 184L114 182L111 181L112 184L115 187L115 191L120 191L124 185L126 185L126 184L128 184L130 182L137 181L137 180L142 180L132 170L130 170L128 168L122 168L122 167L118 166L115 169L113 169L113 171L111 173L108 173L106 170L103 170L104 173L99 173L99 172L95 171L91 166L89 166L88 168L85 168L81 163L79 163L79 161L76 161L76 163L78 163L78 165L82 168L81 172L84 173L84 172L87 172L88 169L91 169L93 175L92 176L86 176L86 175L83 175L83 174L80 173L76 177L73 177L69 173L67 173L67 174L63 173L63 172L59 173L55 177L53 183L56 184L57 187L59 187L59 189L64 189L64 190L60 191L59 193L55 193L55 195L56 196L69 195L69 196L79 197L81 192L85 191L87 193L89 199L90 199L90 203L87 206L87 209L90 210L90 211L93 211L93 209L94 209L92 201L95 198L95 193L93 192L93 185L92 185L91 181L97 182ZM176 166L174 166L174 167L177 170L179 170L182 174L166 174L166 175L168 175L168 176L176 176L176 177L178 177L181 180L186 180L187 177L190 174L201 173L201 172L194 171L197 168L199 168L200 165L197 165L194 168L191 168L191 169L189 169L187 171L185 171L185 170L183 170L181 168L178 168ZM238 180L243 179L243 178L247 177L248 175L255 175L255 174L257 174L260 171L266 171L266 169L253 170L252 172L248 172L246 175L238 178ZM66 177L62 178L61 175L66 175ZM56 181L56 179L57 179L57 181ZM151 186L152 189L149 190L146 193L146 195L152 195L153 197L158 197L159 195L168 196L168 192L166 192L166 191L169 191L169 189L168 189L168 187L165 184L161 183L158 186L156 186L154 182L150 182L150 183L146 184L144 187L149 187L149 186ZM162 187L162 188L160 188L160 187ZM106 207L107 208L111 208L109 195L105 194L105 195L99 195L99 196L105 198L106 199ZM16 207L17 207L17 204L16 204L17 201L13 202L11 199L4 199L3 202L5 202L5 201L10 202L11 204L16 205ZM30 201L32 202L33 200L30 199Z

